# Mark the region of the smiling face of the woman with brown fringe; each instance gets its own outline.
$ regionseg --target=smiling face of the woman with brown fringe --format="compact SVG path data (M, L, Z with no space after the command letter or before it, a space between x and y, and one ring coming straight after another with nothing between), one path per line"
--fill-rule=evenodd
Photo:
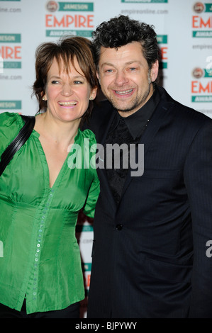
M60 71L57 60L53 60L43 98L47 100L47 112L54 118L65 122L79 122L87 111L89 98L96 97L96 89L91 89L76 58L74 66L70 63L69 68L69 73L64 66Z

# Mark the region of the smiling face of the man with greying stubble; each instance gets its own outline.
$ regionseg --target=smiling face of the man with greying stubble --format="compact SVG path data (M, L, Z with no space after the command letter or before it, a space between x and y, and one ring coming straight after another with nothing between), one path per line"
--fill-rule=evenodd
M135 113L152 96L158 61L148 68L138 42L116 48L101 47L99 82L103 94L123 117Z

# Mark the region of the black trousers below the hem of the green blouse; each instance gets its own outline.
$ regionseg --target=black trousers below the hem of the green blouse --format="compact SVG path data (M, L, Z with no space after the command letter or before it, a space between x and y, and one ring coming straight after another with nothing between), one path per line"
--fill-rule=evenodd
M79 302L62 310L26 314L26 300L21 311L16 311L0 303L0 318L79 318Z

